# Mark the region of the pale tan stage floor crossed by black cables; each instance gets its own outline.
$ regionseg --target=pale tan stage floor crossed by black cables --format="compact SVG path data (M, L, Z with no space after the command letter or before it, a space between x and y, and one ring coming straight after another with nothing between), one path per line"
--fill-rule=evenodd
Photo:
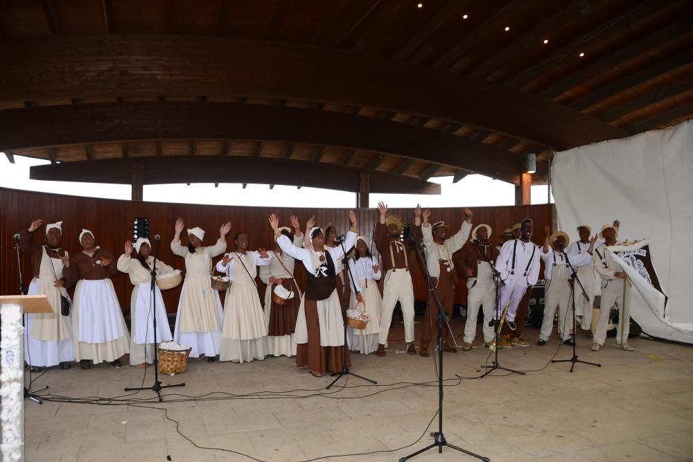
M243 452L261 460L300 461L319 456L396 452L333 458L335 461L396 461L430 444L437 429L438 405L434 357L410 356L404 348L401 323L393 323L387 357L354 355L353 372L378 381L369 386L356 377L347 388L322 389L331 382L298 369L292 359L268 358L249 364L195 361L188 371L164 376L164 384L186 387L165 390L166 402L138 406L168 409L179 430L197 445ZM462 320L453 321L455 334ZM480 328L480 326L479 326ZM417 334L421 323L416 323ZM579 337L580 359L602 367L549 364L556 348L554 335L534 346L538 332L529 328L529 348L500 350L500 364L528 371L501 376L495 371L481 380L480 366L489 351L445 353L444 434L448 443L497 461L680 461L693 459L693 349L644 339L631 339L632 353L615 350L607 339L598 353L587 337ZM459 339L462 344L462 339ZM480 339L477 337L477 344ZM416 345L418 350L419 345ZM556 359L570 358L561 346ZM436 355L437 357L437 355ZM529 372L532 371L532 372ZM454 379L454 380L453 380ZM97 366L81 371L53 369L33 387L49 385L51 393L72 398L122 396L123 387L139 387L143 369L114 370ZM152 384L152 368L144 384ZM406 387L397 382L429 382ZM345 384L342 379L338 385ZM291 391L291 390L301 391ZM311 391L312 390L312 391ZM218 398L215 391L237 398ZM283 397L243 396L258 391L288 391ZM175 393L175 394L174 394ZM184 399L181 393L198 399ZM375 394L377 393L377 394ZM309 398L301 398L302 396ZM152 398L141 391L130 398ZM26 401L28 461L243 461L222 450L198 449L177 434L164 411L127 405L85 405ZM473 461L444 448L430 450L414 461Z

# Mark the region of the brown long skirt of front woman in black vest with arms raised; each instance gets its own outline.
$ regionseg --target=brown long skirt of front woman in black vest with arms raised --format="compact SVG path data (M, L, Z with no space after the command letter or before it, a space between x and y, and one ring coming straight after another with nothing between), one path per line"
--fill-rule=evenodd
M304 302L306 311L306 326L308 327L308 343L298 344L296 350L296 365L308 366L312 373L340 373L344 368L344 345L321 346L320 323L317 317L317 301ZM347 350L347 366L351 366L351 355Z

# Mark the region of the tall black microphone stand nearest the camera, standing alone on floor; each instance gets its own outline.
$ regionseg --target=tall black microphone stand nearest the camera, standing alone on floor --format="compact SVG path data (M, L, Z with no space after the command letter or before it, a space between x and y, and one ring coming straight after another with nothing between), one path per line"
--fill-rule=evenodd
M433 281L431 280L431 274L428 271L428 265L426 265L426 260L423 258L423 251L421 250L421 246L423 246L423 243L416 238L413 234L409 236L412 242L416 244L416 254L419 254L419 258L421 259L421 263L426 271L426 280L428 281L428 291L433 292L433 296L435 297L435 301L438 304L438 358L440 362L440 370L438 373L438 431L437 432L431 432L430 436L433 437L433 443L424 447L421 450L418 450L416 452L413 452L412 454L409 454L408 456L404 456L401 459L399 459L399 462L404 462L407 459L411 459L414 456L418 456L422 452L426 452L430 449L433 449L434 447L438 447L438 452L441 454L443 452L443 446L447 447L452 447L454 450L457 450L459 452L464 452L464 454L468 454L469 456L476 457L477 459L481 459L482 461L485 462L490 462L491 459L488 457L480 456L479 454L474 454L473 452L470 452L468 450L462 449L462 447L457 447L455 445L451 445L448 443L448 441L445 438L445 435L443 434L443 325L444 323L447 324L448 330L450 330L450 333L452 334L452 329L450 328L450 322L448 321L448 314L445 312L445 309L443 308L443 303L440 301L440 297L438 296L438 292L433 285ZM429 320L430 321L430 320ZM455 337L453 335L450 336L453 341L455 341Z

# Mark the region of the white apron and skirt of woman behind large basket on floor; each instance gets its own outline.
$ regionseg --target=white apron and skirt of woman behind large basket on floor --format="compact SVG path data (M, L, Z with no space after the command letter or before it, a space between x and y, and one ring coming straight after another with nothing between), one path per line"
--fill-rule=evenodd
M157 310L157 342L173 339L168 326L166 305L161 297L159 287L154 287ZM130 364L154 362L154 323L152 322L152 291L149 283L140 284L132 289L130 297L131 332Z

